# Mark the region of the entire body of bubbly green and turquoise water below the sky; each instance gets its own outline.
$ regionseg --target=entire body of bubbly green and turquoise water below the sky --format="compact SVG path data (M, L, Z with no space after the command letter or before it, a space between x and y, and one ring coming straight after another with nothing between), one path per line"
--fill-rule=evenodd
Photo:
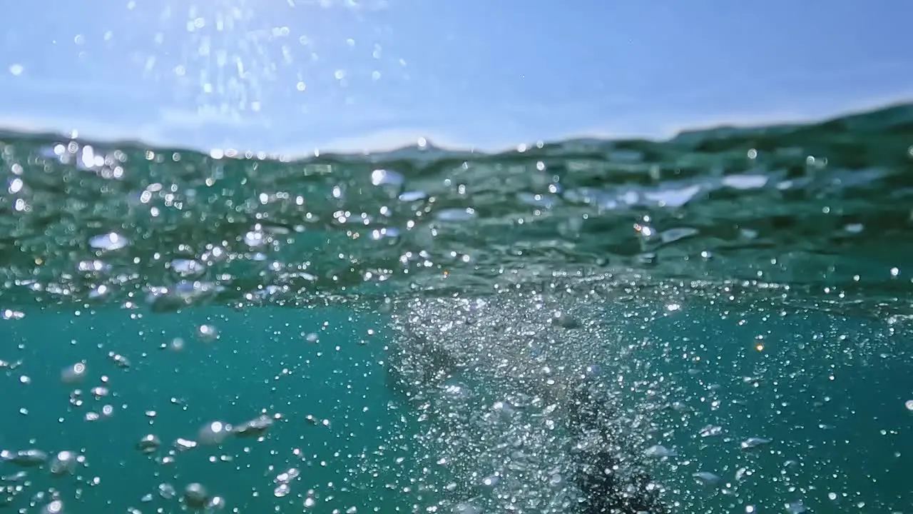
M911 145L5 134L0 505L909 512Z

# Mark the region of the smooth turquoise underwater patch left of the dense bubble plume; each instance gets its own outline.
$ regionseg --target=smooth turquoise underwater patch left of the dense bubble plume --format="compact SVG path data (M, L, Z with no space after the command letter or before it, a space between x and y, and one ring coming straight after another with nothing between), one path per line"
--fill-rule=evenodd
M30 473L32 485L13 507L26 506L41 490L57 490L69 500L68 511L168 511L178 505L161 498L157 487L170 484L180 496L193 482L226 502L238 498L226 505L246 512L300 511L309 490L318 500L315 511L376 506L408 512L417 501L404 492L416 488L411 479L421 478L409 449L415 428L394 408L398 401L386 386L383 335L367 334L382 329L380 316L275 307L150 316L116 306L79 315L28 314L4 330L5 357L22 362L3 386L16 393L4 402L4 445L52 455L75 451L86 463L68 477ZM207 324L220 334L203 343L195 331ZM309 333L319 334L319 342L308 342ZM185 339L182 350L160 348L175 337ZM131 367L119 367L110 352L130 359ZM60 372L83 360L85 380L76 384L82 403L74 405L74 385L61 383ZM31 383L21 383L24 376ZM90 390L98 386L109 394L96 399ZM93 412L100 417L89 422ZM261 413L282 415L261 441L236 438L165 460L174 440L197 440L205 423L243 423ZM151 455L135 449L146 434L163 442ZM401 457L407 458L397 463ZM300 475L288 496L276 498L276 477L291 468ZM150 493L152 500L142 501Z

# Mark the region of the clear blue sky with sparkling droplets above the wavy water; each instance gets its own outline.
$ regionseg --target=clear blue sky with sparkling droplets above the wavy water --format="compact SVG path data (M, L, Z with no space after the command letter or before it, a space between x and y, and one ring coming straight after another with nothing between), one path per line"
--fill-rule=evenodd
M897 0L30 0L0 126L283 154L663 137L913 100Z

